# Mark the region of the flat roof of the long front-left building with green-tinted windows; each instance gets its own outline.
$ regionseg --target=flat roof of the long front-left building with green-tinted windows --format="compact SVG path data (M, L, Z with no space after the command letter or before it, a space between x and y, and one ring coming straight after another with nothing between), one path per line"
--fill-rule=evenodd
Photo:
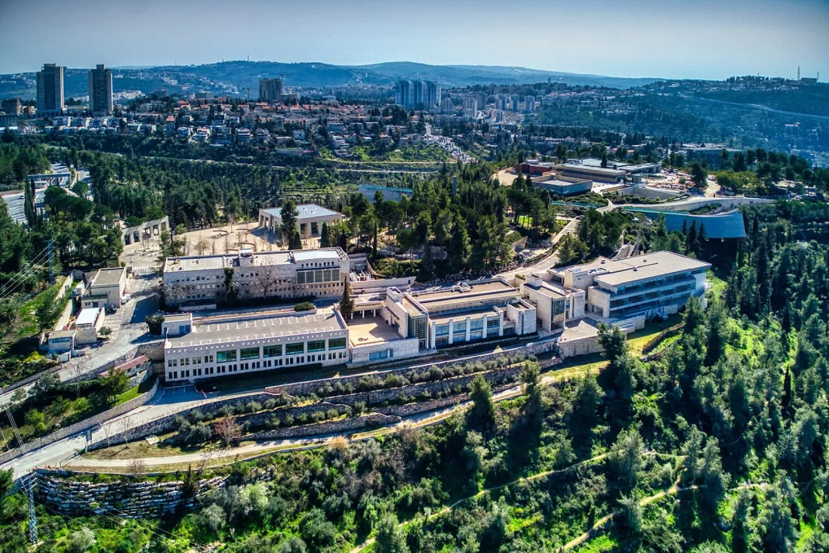
M240 340L280 338L296 336L304 339L308 334L345 330L333 312L308 315L269 315L250 318L243 315L220 315L199 320L188 334L167 338L172 348L194 345L226 344Z

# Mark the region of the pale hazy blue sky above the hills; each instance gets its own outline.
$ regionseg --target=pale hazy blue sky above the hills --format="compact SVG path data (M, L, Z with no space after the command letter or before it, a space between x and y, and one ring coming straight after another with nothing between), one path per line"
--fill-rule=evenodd
M829 0L2 0L0 73L44 62L521 65L829 80Z

